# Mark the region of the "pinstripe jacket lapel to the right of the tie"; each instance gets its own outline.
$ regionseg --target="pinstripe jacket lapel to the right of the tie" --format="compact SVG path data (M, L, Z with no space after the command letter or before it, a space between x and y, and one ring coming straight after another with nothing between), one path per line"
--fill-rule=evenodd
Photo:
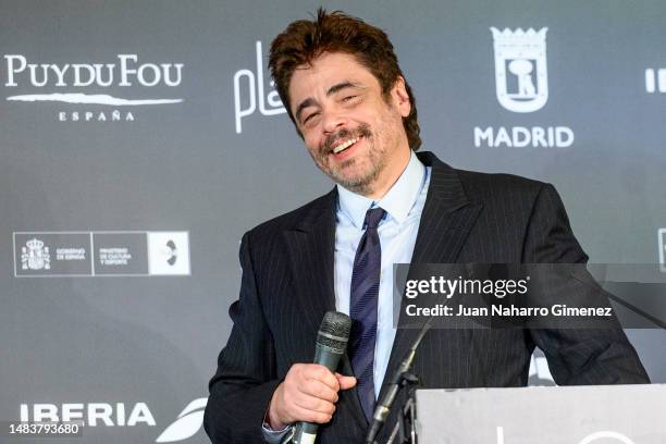
M421 162L432 166L432 170L411 263L455 263L479 217L482 205L467 198L460 178L454 169L441 162L431 152L422 152L418 156ZM404 307L400 307L400 310L404 312ZM421 320L421 323L424 321L424 319ZM418 333L418 328L397 330L380 398L386 391L386 382L405 357Z

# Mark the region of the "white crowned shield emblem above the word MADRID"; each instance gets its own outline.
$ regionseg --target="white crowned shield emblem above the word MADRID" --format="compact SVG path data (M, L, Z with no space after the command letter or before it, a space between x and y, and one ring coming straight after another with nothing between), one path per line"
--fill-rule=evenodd
M547 27L539 32L491 27L495 50L495 90L499 104L509 111L536 111L548 100L547 30Z

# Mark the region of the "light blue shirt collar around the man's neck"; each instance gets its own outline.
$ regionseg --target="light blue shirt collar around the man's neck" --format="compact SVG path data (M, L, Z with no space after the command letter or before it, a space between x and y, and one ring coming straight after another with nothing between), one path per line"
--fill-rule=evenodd
M373 207L383 208L397 223L403 223L419 196L424 176L425 166L411 151L405 171L382 199L375 201L337 185L338 208L359 230L366 212Z

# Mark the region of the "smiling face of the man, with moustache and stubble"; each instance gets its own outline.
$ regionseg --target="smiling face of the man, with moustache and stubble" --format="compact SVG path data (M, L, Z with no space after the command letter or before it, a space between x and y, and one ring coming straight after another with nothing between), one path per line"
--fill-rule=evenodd
M291 110L314 163L345 188L385 193L409 159L403 118L411 106L398 78L388 97L346 53L326 52L294 71Z

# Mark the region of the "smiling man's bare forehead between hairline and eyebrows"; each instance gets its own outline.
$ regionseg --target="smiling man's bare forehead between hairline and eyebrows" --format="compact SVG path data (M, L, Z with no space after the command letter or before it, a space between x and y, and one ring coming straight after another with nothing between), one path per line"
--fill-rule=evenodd
M354 55L344 52L324 52L312 63L294 70L289 79L289 107L294 109L304 99L325 95L331 86L342 82L379 87L374 75Z

